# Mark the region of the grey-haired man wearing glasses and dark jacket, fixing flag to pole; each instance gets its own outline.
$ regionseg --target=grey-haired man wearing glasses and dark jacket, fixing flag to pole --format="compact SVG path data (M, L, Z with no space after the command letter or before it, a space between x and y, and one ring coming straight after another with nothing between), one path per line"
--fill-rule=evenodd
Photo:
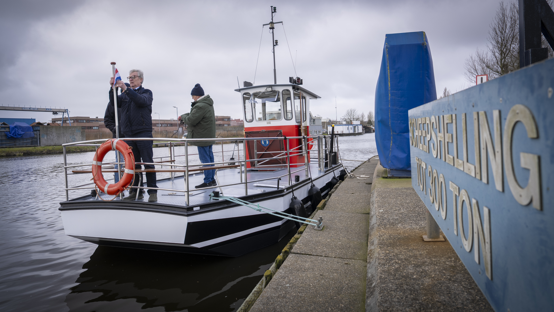
M121 94L117 95L117 108L121 108L121 133L125 138L152 138L152 91L142 87L144 73L140 69L132 69L127 77L130 87L124 82L117 80L115 86L121 88ZM114 78L110 79L110 85L114 85ZM110 88L110 105L114 105L114 89ZM118 110L119 112L119 110ZM132 147L136 163L153 163L152 140L125 141ZM141 169L141 165L135 165L136 169ZM154 169L154 165L144 165L145 169ZM135 174L135 183L133 186L139 186L139 176L142 179L142 173ZM144 180L142 180L144 181ZM146 173L146 185L149 188L157 188L156 173ZM139 199L143 198L142 189L138 190ZM148 202L157 202L157 190L148 189ZM123 200L135 200L137 189L131 188L129 196Z

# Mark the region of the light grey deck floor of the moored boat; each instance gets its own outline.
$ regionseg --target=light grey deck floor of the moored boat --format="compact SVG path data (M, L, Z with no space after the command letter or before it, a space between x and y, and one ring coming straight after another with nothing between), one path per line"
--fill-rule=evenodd
M338 176L340 171L340 164L335 165L334 170L335 174ZM299 167L299 168L290 168L291 175L293 176L293 183L294 183L294 175L299 175L300 181L304 180L306 178L306 171L304 170L305 166ZM320 171L317 169L317 163L311 163L310 164L310 171L312 178L317 178L321 175L324 175L326 172L329 172L329 169L326 171ZM294 171L300 170L296 173L292 173ZM247 179L248 181L253 180L260 180L260 179L268 179L271 177L279 177L281 175L284 175L287 173L287 169L279 169L275 171L248 171L247 172ZM217 179L219 181L218 184L225 185L225 184L233 184L233 183L239 183L240 182L240 170L238 168L233 169L219 169L217 171ZM165 189L180 189L184 190L185 184L184 184L184 175L177 176L171 179L160 179L157 180L157 186L158 188L165 188ZM143 179L146 178L143 174ZM244 184L237 184L237 185L230 185L227 187L213 187L208 189L202 189L202 190L196 190L194 189L195 185L202 184L204 182L204 173L199 172L195 174L189 174L189 206L193 205L200 205L203 203L209 202L209 194L212 193L212 191L220 191L223 192L223 195L225 196L233 196L233 197L242 197L244 196ZM275 187L269 187L269 186L263 186L264 185L274 185ZM288 187L288 177L282 177L279 181L279 189ZM146 183L144 183L146 186ZM263 193L263 192L269 192L271 190L276 190L277 186L277 178L264 180L261 182L248 182L248 194L256 194L256 193ZM169 204L169 205L179 205L186 207L185 198L186 195L184 192L175 192L175 191L168 191L168 190L158 190L158 204ZM175 193L175 194L173 194ZM125 195L129 194L129 191L125 191ZM144 194L143 199L138 199L136 202L148 202L148 195ZM104 193L100 193L99 195L104 200L110 200L114 198L113 195L107 195ZM95 197L86 197L79 200L96 200ZM117 196L114 200L121 200L119 196ZM73 201L73 200L72 200Z

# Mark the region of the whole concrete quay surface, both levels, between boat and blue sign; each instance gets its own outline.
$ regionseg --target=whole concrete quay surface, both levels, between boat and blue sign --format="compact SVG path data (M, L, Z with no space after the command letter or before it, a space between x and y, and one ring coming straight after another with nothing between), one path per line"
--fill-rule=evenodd
M250 311L493 311L448 241L423 241L411 179L373 157L334 190Z

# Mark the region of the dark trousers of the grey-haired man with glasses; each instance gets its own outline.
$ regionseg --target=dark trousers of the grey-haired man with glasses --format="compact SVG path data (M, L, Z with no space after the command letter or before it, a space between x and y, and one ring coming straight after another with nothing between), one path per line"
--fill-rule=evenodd
M136 133L133 135L125 135L125 138L151 138L152 132L151 131L145 131ZM154 152L152 150L152 140L144 140L144 141L125 141L127 144L129 144L130 147L132 147L133 155L135 155L135 163L153 163L154 160L152 159ZM142 162L141 162L142 160ZM145 169L154 169L154 165L144 165ZM135 169L141 169L141 165L135 165ZM142 177L141 173L135 173L135 182L133 183L134 187L139 186L139 175ZM156 185L156 173L155 172L147 172L146 173L146 185L149 188L157 188ZM144 179L142 179L142 185L144 186ZM136 189L131 189L131 192L136 192ZM148 194L152 193L158 193L158 190L155 189L149 189Z

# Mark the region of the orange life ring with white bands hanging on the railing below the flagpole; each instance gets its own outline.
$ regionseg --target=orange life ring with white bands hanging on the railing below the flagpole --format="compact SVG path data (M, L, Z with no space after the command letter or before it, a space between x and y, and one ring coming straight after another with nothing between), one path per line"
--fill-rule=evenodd
M107 183L102 175L102 159L110 150L118 150L125 159L124 174L119 182ZM123 192L135 176L135 157L129 145L121 139L109 139L102 143L93 157L93 179L96 186L107 195L119 195Z

